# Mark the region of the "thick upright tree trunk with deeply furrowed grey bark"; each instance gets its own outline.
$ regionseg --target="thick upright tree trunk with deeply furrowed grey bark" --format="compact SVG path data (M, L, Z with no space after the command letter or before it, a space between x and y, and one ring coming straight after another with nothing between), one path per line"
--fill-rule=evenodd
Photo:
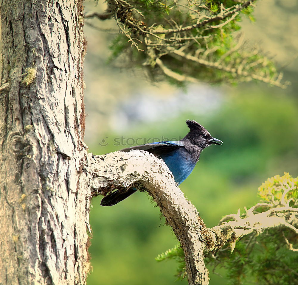
M82 1L0 9L0 284L85 284Z

